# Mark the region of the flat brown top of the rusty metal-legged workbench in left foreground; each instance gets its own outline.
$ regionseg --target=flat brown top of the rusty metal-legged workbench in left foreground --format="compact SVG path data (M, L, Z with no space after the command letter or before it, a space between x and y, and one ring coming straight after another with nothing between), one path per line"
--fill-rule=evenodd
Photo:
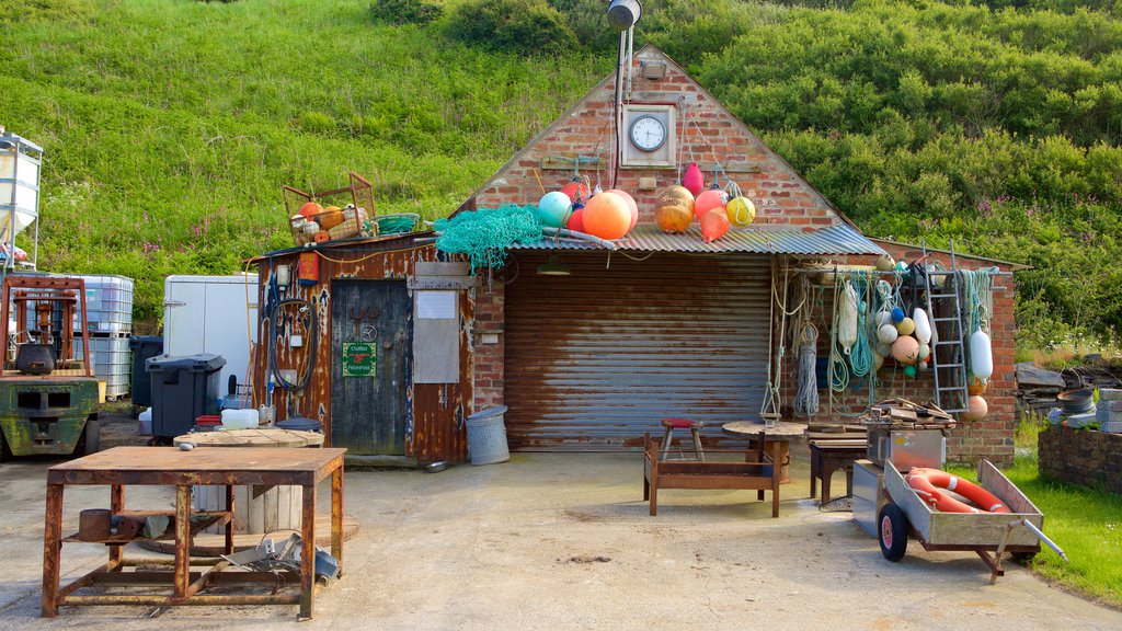
M346 449L114 447L47 469L49 484L315 484Z

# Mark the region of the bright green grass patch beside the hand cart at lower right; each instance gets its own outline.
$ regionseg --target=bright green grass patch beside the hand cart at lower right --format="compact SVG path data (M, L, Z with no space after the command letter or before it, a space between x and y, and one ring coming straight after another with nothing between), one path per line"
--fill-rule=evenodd
M953 467L977 479L976 469ZM1045 533L1067 554L1047 547L1029 566L1058 585L1122 607L1122 496L1041 478L1034 456L1003 472L1045 514Z

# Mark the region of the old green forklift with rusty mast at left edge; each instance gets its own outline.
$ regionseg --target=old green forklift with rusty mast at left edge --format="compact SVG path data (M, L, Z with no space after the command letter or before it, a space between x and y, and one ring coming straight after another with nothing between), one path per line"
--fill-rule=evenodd
M85 281L6 276L0 295L0 459L98 451L98 379L86 331ZM15 327L15 330L11 328Z

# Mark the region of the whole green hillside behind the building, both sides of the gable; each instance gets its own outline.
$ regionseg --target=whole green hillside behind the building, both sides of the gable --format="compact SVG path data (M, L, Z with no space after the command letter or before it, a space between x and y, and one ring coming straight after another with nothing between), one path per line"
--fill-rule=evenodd
M419 2L443 16L371 10ZM43 266L137 277L151 321L163 275L289 243L282 184L356 170L381 211L447 214L614 62L600 0L2 3L0 121L48 152ZM1049 346L1122 329L1113 7L647 0L637 36L868 234L1033 265L1022 342Z

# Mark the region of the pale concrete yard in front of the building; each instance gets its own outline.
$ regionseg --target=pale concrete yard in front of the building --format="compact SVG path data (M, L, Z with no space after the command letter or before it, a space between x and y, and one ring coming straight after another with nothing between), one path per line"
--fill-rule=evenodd
M37 616L48 465L0 467L0 629L1122 629L1122 612L1013 564L990 585L972 554L912 542L903 561L884 560L849 513L806 499L806 463L783 487L780 519L745 491L664 491L652 518L638 455L348 472L347 512L361 530L311 622L297 624L295 606L63 607L47 621ZM136 490L128 504L171 497ZM79 510L107 505L104 490L67 491L65 530ZM65 577L103 554L64 546Z

